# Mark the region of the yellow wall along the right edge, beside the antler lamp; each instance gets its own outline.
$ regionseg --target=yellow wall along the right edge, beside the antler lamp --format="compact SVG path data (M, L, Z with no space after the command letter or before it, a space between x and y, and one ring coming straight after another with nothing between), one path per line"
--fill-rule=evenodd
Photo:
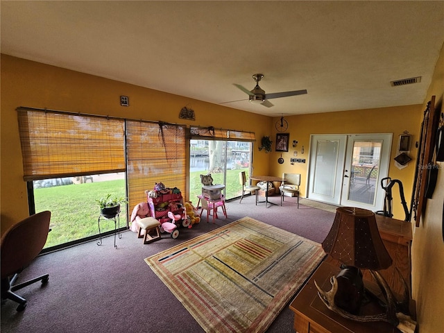
M435 104L441 105L443 112L443 93L444 46L422 109L425 110L427 101L436 96ZM438 182L432 199L427 200L424 219L418 228L413 226L412 289L421 333L444 332L444 162L438 165Z

